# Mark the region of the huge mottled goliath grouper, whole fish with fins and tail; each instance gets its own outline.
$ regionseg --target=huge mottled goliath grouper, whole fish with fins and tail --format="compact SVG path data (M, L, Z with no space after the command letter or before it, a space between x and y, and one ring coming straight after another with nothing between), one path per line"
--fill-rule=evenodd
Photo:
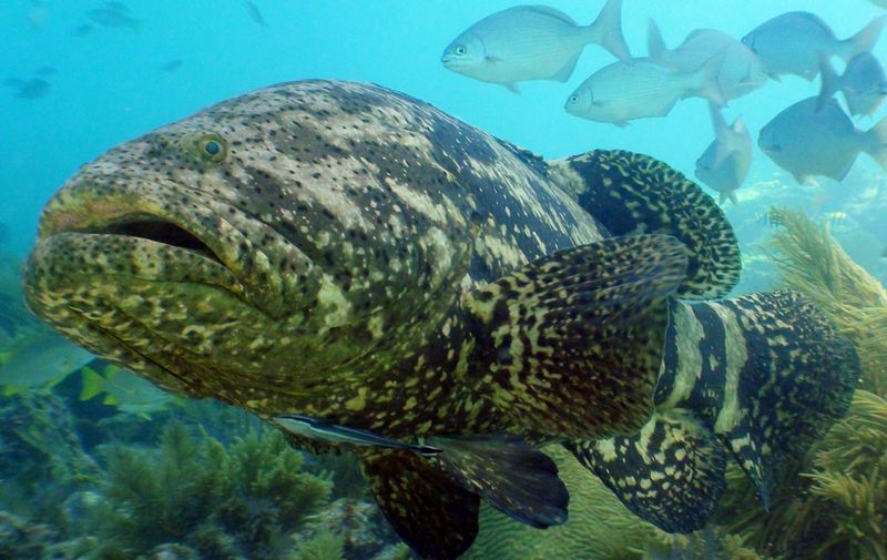
M699 302L738 271L721 210L655 160L544 162L406 95L306 81L84 166L24 282L101 357L353 450L404 540L452 559L481 499L565 520L542 444L667 531L704 525L728 456L767 503L859 366L797 294Z

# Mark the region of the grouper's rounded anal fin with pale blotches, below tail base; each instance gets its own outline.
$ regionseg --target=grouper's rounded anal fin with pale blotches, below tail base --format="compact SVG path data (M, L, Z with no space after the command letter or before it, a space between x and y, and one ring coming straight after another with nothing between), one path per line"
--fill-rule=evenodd
M636 516L669 532L701 529L726 489L726 449L685 410L640 432L564 444Z

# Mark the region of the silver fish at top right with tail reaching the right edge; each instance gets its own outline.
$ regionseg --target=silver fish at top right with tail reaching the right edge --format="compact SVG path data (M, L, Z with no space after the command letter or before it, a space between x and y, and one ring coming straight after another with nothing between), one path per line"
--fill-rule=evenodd
M819 73L819 55L850 60L868 52L877 42L887 18L869 22L849 39L839 40L828 24L809 12L788 12L777 16L743 37L767 73L773 78L797 74L813 80Z

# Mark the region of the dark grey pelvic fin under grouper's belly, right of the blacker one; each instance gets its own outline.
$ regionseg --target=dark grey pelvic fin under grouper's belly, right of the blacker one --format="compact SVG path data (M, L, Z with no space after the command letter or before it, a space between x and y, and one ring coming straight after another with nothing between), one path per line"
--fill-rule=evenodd
M539 529L567 521L558 466L520 436L435 436L428 445L441 449L434 458L441 469L502 513Z

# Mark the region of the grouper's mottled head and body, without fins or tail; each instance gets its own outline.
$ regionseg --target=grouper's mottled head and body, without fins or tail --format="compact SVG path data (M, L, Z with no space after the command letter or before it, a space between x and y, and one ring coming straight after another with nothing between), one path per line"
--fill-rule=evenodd
M29 303L164 387L264 417L404 438L497 430L465 383L460 302L603 237L541 166L381 88L272 86L84 166L47 205ZM145 222L198 248L119 235Z

